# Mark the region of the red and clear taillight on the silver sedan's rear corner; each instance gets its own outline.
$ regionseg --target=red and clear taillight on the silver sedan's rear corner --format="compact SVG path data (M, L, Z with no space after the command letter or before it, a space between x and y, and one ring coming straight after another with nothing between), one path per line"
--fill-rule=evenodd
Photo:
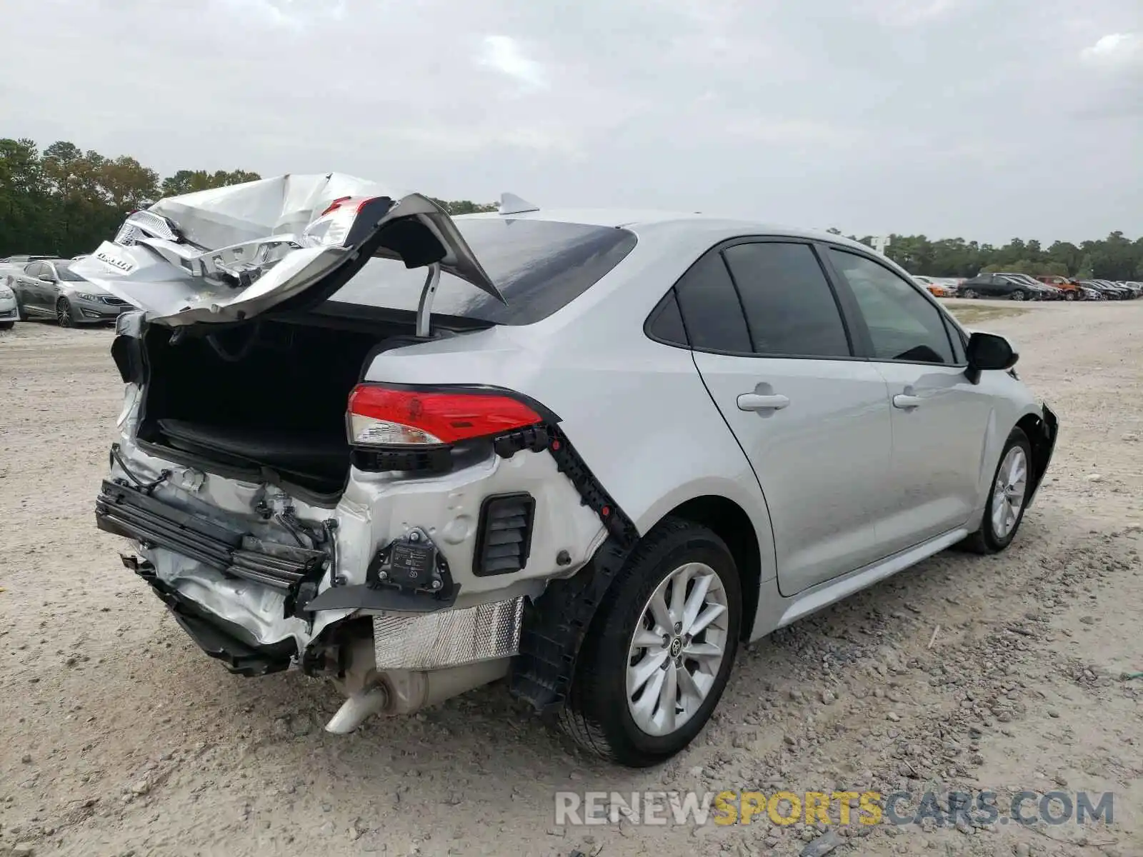
M350 393L352 446L431 446L501 434L542 423L502 393L445 393L359 384Z

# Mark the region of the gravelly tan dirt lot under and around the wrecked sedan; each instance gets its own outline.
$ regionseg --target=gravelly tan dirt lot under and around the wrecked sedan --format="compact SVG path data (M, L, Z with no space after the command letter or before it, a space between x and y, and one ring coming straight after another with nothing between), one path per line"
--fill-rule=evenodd
M331 688L229 675L94 527L111 334L0 334L0 854L799 855L818 831L765 814L555 827L553 793L964 786L1110 791L1114 822L854 826L807 854L1143 855L1143 680L1124 678L1143 671L1143 301L988 306L969 323L1014 337L1062 423L1016 543L751 646L706 732L642 772L576 755L497 688L335 737Z

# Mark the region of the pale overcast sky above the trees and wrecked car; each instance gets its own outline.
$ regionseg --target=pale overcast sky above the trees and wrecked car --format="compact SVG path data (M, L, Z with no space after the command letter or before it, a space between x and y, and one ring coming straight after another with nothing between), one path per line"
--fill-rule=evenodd
M448 199L1143 233L1141 0L5 0L0 136Z

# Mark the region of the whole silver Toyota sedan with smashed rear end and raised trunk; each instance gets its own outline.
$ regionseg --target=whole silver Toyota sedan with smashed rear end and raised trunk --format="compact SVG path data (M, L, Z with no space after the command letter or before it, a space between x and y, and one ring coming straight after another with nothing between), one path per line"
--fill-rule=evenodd
M828 233L293 175L74 266L146 310L99 528L232 672L333 679L335 732L507 676L661 762L740 643L1006 548L1055 444L1007 341Z

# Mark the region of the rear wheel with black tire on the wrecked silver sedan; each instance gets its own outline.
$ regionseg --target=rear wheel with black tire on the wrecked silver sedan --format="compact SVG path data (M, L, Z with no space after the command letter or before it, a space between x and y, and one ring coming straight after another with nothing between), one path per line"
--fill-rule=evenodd
M584 639L563 730L583 748L646 768L710 720L738 647L738 569L713 531L666 518L616 576Z

